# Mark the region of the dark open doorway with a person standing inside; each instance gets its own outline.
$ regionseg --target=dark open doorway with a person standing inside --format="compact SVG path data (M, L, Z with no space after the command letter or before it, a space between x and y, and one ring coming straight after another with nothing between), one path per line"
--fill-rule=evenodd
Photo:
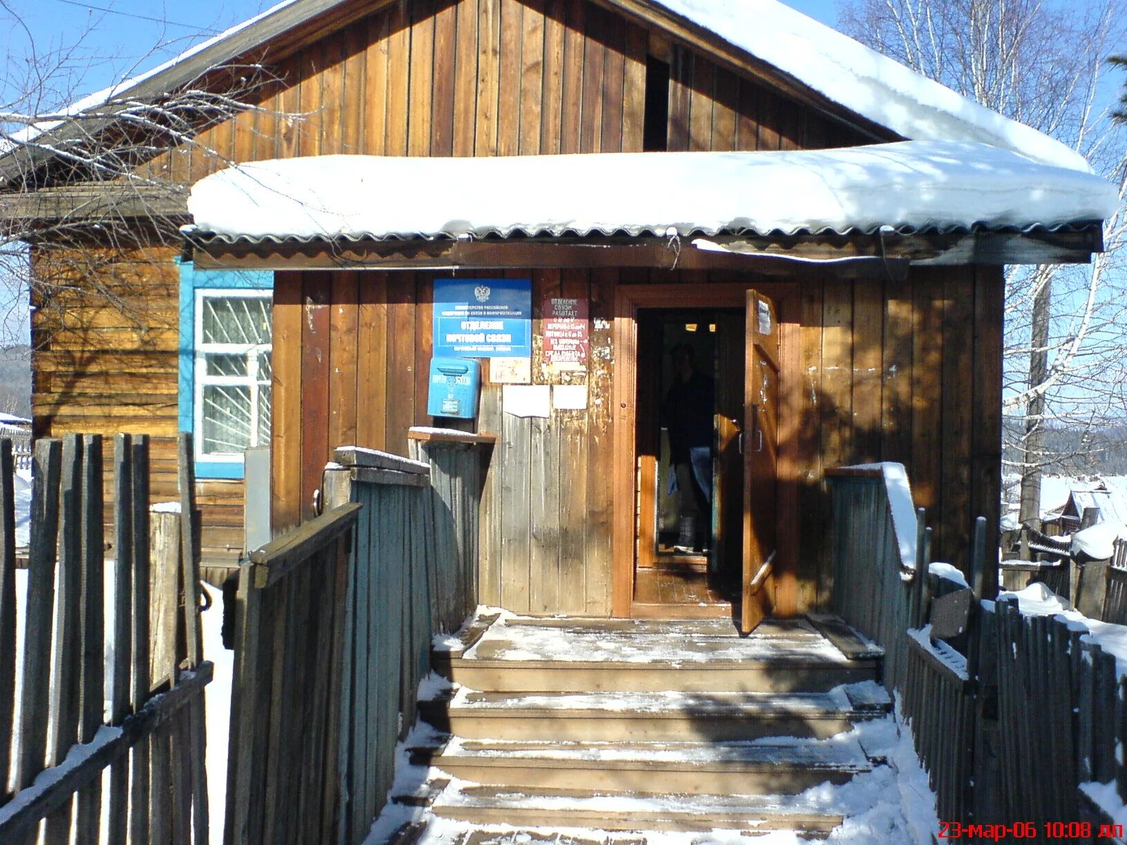
M744 343L743 309L638 311L636 611L738 601Z

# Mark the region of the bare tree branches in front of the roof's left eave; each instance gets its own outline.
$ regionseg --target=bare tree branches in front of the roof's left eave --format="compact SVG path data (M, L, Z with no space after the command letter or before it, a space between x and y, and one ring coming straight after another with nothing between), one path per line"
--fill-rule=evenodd
M260 110L260 89L276 80L245 60L206 68L175 90L137 87L140 70L167 54L168 42L160 42L125 69L125 81L83 97L95 61L83 36L43 45L7 0L0 0L0 32L8 35L0 78L0 284L30 291L38 308L57 312L51 323L62 324L69 299L81 296L149 328L147 309L131 305L144 297L143 257L153 247L178 248L184 220L183 211L174 212L183 210L190 184L145 162L180 150L207 159L204 170L231 163L201 133ZM14 328L0 322L0 346L18 340Z

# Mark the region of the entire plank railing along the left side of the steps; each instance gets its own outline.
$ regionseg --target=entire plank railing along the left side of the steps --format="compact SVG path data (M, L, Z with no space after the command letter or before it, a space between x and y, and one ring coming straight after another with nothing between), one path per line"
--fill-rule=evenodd
M240 572L229 845L352 845L383 807L432 639L477 603L480 447L426 443L338 450L330 509Z

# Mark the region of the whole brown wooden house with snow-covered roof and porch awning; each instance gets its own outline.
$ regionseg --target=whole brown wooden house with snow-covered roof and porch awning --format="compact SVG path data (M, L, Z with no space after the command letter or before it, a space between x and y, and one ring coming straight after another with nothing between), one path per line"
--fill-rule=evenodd
M195 429L213 560L243 551L242 447L272 450L279 530L335 447L414 426L496 436L480 601L513 611L727 614L769 572L780 612L825 606L851 464L906 466L940 558L994 531L1003 265L1088 261L1116 202L1071 151L773 0L294 0L137 90L248 64L255 108L137 166L190 204L114 206L189 224L137 250L145 320L73 291L78 319L34 318L36 434ZM35 155L6 215L76 213L90 186ZM462 348L456 425L428 411L451 279L531 330ZM707 555L663 531L676 345L715 380Z

